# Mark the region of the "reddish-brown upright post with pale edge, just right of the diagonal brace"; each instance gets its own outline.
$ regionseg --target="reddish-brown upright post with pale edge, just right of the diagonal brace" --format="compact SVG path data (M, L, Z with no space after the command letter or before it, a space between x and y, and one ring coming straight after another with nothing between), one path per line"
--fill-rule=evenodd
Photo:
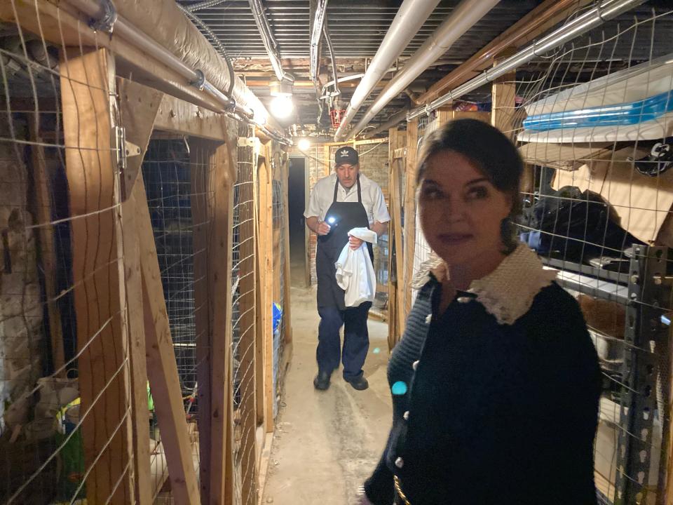
M224 123L226 142L212 155L209 187L212 188L212 226L210 250L210 314L212 314L211 376L210 376L210 503L233 503L233 464L227 458L233 454L233 369L231 270L233 263L233 186L236 182L238 126L235 121ZM202 445L203 447L203 445ZM202 451L201 454L203 454ZM233 459L232 459L233 462Z

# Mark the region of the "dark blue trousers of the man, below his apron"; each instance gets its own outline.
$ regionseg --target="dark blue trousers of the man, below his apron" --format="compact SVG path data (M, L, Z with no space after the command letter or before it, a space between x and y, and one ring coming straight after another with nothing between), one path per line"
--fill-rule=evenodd
M343 311L336 307L318 309L320 325L315 357L320 370L332 372L339 367L341 359L344 363L344 379L357 379L362 376L362 365L365 364L369 351L367 316L371 308L372 304L367 302L360 307L349 307ZM343 353L339 337L341 326L344 326Z

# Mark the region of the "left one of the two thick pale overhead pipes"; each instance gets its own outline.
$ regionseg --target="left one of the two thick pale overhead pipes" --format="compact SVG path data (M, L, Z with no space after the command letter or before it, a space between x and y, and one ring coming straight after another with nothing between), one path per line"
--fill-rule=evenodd
M402 3L386 36L383 37L379 50L376 51L376 55L367 67L365 76L353 92L351 102L346 109L346 116L342 119L337 133L334 134L334 140L341 142L346 138L346 129L355 118L355 114L358 113L369 93L372 93L376 84L381 81L383 75L388 72L388 69L409 45L416 32L433 13L437 4L439 4L439 0L405 0Z

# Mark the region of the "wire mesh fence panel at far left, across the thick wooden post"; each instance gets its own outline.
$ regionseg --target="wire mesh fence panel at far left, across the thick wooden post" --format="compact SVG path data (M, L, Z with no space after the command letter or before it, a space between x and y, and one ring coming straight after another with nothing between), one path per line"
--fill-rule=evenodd
M0 31L0 501L130 502L114 81L60 49Z

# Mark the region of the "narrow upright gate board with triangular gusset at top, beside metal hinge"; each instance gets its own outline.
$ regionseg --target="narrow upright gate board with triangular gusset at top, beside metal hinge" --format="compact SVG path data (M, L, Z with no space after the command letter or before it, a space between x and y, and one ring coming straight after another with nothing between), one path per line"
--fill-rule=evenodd
M144 314L142 310L142 271L140 243L136 223L136 202L132 189L147 152L154 119L163 93L132 81L118 79L121 126L125 137L141 149L141 154L128 157L123 174L121 230L124 243L126 308L129 325L130 379L133 429L133 469L135 492L140 504L152 501L149 457L149 410L147 404L147 361L145 352Z

